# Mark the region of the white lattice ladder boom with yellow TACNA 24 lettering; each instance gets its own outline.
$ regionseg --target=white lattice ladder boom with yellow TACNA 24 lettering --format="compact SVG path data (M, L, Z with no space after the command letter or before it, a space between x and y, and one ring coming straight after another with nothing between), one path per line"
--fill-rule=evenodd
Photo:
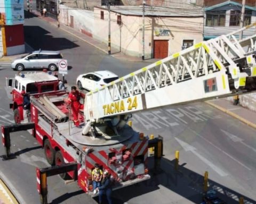
M198 43L87 93L86 121L256 90L256 35L236 39L255 25Z

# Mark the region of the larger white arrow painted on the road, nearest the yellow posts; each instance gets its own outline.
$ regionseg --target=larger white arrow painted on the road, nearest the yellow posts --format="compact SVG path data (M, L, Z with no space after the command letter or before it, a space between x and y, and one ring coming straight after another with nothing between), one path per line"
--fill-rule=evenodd
M180 146L185 150L185 151L191 151L194 155L196 155L199 159L201 159L205 164L207 164L208 166L210 166L215 172L217 172L220 176L227 176L228 174L224 171L222 171L218 166L215 166L214 164L212 164L212 162L210 162L209 160L207 160L206 158L204 158L202 155L200 155L198 152L196 152L196 148L188 145L188 143L175 138L175 140L177 142L179 142Z

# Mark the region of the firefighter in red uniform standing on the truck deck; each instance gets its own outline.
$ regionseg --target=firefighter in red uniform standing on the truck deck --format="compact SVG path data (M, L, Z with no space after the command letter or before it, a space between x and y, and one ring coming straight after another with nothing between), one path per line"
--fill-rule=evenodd
M71 92L68 95L68 104L71 106L71 110L74 117L74 123L77 128L82 128L79 125L78 113L79 109L84 109L84 105L79 102L80 98L84 98L85 95L76 90L76 87L71 87Z

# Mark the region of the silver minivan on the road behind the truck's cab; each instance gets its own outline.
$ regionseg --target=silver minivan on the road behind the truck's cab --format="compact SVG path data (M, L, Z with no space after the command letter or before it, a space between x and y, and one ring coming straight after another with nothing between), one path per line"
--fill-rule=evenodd
M14 60L11 66L13 70L18 71L44 68L55 71L58 69L59 61L62 58L59 51L37 50Z

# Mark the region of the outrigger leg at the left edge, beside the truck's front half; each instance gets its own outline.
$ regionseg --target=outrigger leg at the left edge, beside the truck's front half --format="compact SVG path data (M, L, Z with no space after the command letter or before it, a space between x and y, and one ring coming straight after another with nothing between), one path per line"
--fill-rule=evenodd
M5 156L3 156L4 160L14 158L11 155L11 139L10 133L11 132L18 132L22 130L30 130L33 129L33 135L36 137L35 134L35 123L26 123L26 124L15 124L15 125L2 125L2 143L5 148Z

